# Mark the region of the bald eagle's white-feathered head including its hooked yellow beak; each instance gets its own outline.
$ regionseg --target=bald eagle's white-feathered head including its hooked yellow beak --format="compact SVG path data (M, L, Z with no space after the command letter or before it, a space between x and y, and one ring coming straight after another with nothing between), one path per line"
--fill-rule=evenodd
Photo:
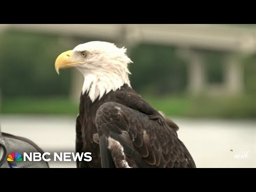
M113 43L93 41L77 45L73 50L61 53L55 61L55 69L75 67L84 76L82 94L89 93L92 102L103 94L115 91L124 84L130 85L127 68L132 62Z

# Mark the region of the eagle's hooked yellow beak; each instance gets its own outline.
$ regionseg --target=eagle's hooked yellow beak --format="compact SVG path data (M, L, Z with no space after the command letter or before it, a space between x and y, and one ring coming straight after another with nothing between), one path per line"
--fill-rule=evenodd
M79 63L79 61L74 60L73 57L73 51L65 51L61 53L58 58L55 61L55 70L59 74L59 69L65 69L74 67L74 64Z

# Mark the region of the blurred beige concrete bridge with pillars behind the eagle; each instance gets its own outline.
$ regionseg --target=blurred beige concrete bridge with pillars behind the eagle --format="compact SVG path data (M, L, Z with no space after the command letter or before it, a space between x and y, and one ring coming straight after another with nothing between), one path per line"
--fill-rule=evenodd
M189 61L188 90L192 95L208 93L243 93L243 66L239 58L256 51L256 28L234 25L150 25L150 24L10 24L0 25L5 29L56 34L75 41L79 37L110 41L128 50L139 43L171 45L177 54ZM224 82L209 85L205 75L204 50L224 52L226 65ZM76 73L76 72L74 72ZM81 76L74 74L73 97L81 91ZM206 90L207 88L207 90Z

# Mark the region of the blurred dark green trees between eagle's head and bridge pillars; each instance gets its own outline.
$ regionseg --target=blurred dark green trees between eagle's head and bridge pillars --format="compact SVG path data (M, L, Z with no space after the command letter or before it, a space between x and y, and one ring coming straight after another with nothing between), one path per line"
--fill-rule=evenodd
M186 63L174 47L140 44L133 48L131 59L131 84L136 91L162 95L186 89Z

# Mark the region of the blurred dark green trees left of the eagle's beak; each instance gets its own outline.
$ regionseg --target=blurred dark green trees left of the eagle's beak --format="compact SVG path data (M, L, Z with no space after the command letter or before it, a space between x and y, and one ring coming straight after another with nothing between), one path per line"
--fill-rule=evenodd
M52 35L5 31L0 35L0 86L5 96L68 94L70 71L57 76L54 61L70 47Z

